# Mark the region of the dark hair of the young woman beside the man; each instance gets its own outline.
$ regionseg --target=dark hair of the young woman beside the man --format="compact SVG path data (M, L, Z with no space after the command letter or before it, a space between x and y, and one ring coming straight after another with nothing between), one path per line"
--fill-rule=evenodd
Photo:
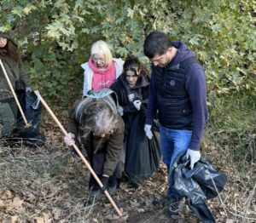
M137 57L131 55L125 60L125 64L123 66L124 71L123 75L125 76L126 71L133 71L136 76L143 75L148 76L148 70L143 65L143 63L138 60ZM137 73L137 70L139 70L139 73Z

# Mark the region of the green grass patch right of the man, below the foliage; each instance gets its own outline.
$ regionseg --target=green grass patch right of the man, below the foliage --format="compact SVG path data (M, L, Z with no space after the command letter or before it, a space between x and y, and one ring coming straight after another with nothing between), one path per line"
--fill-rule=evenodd
M221 147L231 163L247 171L247 166L256 161L255 97L234 94L212 98L210 103L205 143Z

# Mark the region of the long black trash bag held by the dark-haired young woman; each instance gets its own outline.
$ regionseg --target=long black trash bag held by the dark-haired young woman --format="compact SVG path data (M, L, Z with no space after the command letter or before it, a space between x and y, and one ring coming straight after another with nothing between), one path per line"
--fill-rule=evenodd
M161 159L157 135L153 132L153 138L148 140L144 132L143 111L134 116L125 143L125 174L131 185L138 186L154 174Z

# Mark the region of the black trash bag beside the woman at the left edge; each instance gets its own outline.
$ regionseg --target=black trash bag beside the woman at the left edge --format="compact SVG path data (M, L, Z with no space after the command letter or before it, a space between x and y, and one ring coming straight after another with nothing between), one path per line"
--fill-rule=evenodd
M26 128L19 111L15 137L22 138L27 146L44 146L45 136L39 131L42 105L40 100L38 100L37 94L33 91L26 92L26 94L20 94L19 100L20 106L25 114L26 121L27 123L30 123L30 126Z

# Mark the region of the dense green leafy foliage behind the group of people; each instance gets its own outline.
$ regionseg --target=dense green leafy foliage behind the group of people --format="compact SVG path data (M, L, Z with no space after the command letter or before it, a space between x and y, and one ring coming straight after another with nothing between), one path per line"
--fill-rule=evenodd
M255 5L253 0L3 0L0 19L1 30L11 31L22 49L34 88L67 108L82 93L80 64L90 56L91 43L105 39L115 56L136 54L147 61L143 40L154 29L195 50L209 93L255 94Z

